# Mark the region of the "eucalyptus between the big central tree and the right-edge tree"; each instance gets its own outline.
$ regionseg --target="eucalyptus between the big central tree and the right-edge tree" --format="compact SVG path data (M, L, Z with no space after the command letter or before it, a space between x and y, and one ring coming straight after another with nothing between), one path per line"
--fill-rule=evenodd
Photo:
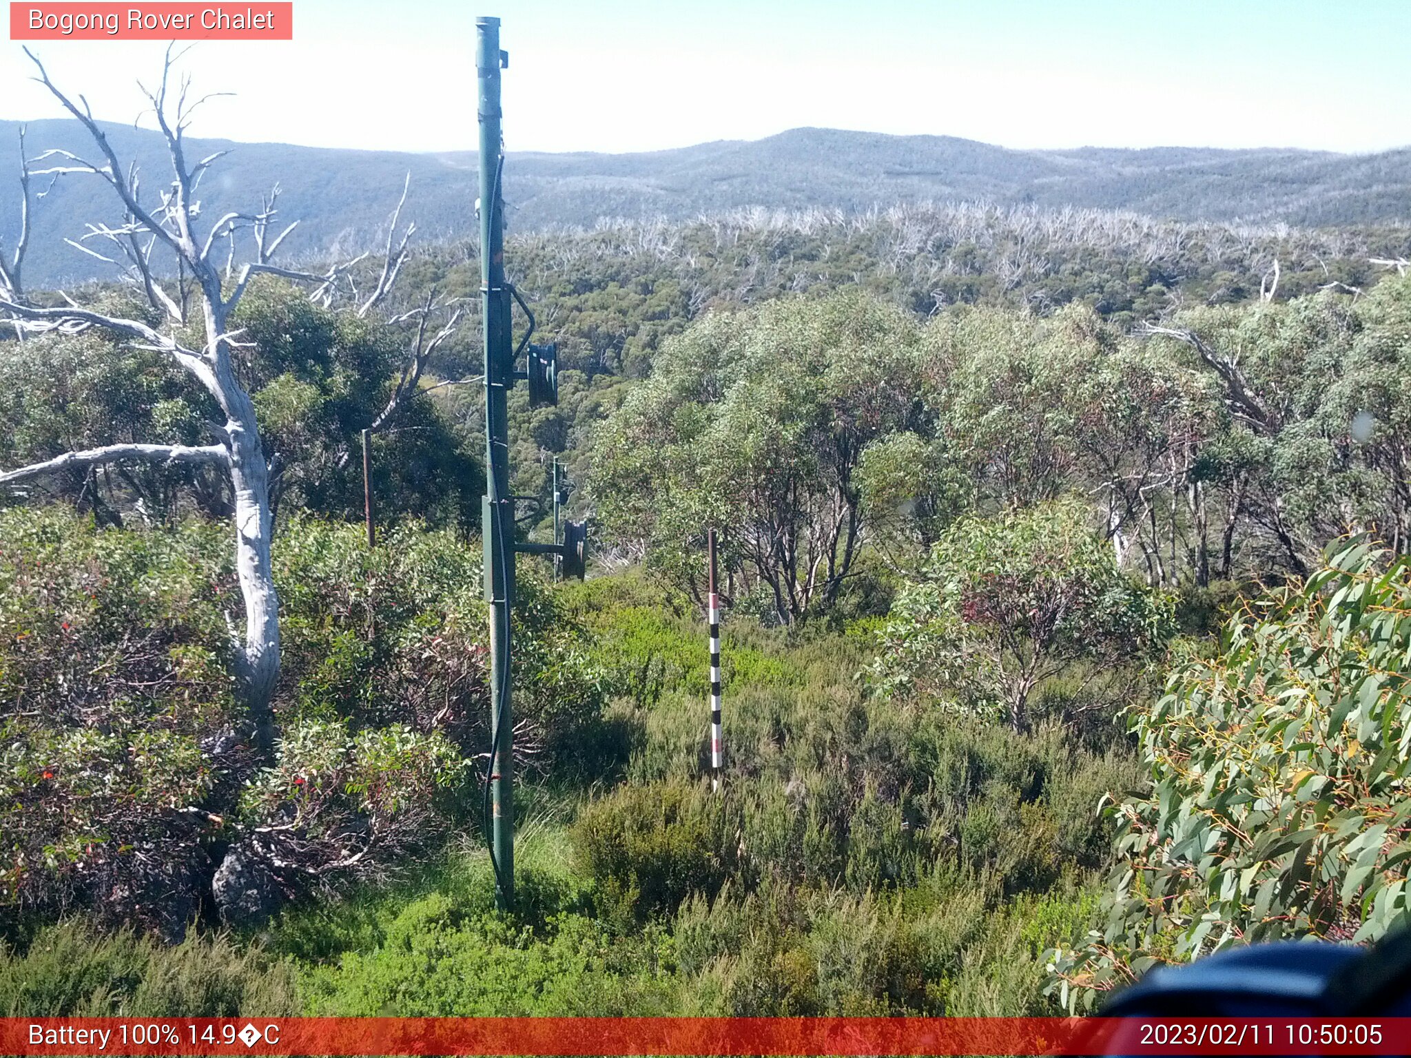
M948 482L952 515L1085 492L1116 564L1153 584L1208 581L1209 515L1192 470L1216 409L1201 371L1078 305L1047 317L954 309L926 343L926 480Z

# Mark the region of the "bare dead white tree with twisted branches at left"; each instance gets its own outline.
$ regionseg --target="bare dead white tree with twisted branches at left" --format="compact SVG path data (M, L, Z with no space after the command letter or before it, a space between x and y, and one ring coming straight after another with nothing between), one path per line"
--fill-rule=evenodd
M0 317L21 333L73 334L97 327L126 339L134 347L159 351L210 394L224 422L209 423L214 439L212 444L111 444L71 451L27 467L3 470L0 485L16 485L65 467L99 467L128 460L161 466L199 464L222 471L231 492L236 573L246 618L243 633L231 622L236 674L255 742L262 749L268 748L274 736L270 703L279 676L279 601L270 561L270 464L250 394L240 385L233 368L231 354L241 343L238 332L231 332L229 322L255 275L278 275L312 284L310 298L330 303L349 269L361 258L334 265L322 275L275 265L275 253L295 227L288 224L277 231L278 188L264 199L258 212L226 213L206 229L205 236L198 230L200 203L196 195L202 176L224 152L195 162L188 159L185 131L192 113L206 97L190 97L189 78L182 78L179 86L172 83L175 59L169 49L159 85L155 90L143 89L151 102L172 164L171 183L155 196L144 196L135 166L124 168L119 161L107 135L93 118L87 100L83 96L76 102L71 99L49 79L40 59L28 49L25 54L35 65L35 80L85 127L97 157L89 161L69 151L54 150L21 159L21 231L14 253L0 269ZM72 241L72 245L123 268L162 316L159 324L95 312L62 293L65 303L48 308L27 296L21 276L32 205L30 185L37 176L93 176L109 185L121 205L123 220L117 224L87 224L87 231L80 240ZM241 231L253 234L254 253L237 269L234 258L237 233ZM93 248L95 244L107 253ZM227 251L224 281L223 269L214 261L220 248ZM405 245L402 250L405 251ZM405 258L398 254L396 264L389 261L384 268L377 289L364 299L364 312L385 296L401 268L401 260ZM186 337L192 333L198 337Z

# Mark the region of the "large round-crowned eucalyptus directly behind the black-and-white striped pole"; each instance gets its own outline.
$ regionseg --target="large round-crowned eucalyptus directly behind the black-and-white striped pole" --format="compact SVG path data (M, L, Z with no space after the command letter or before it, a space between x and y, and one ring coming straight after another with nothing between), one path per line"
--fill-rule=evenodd
M917 326L862 295L707 315L598 433L604 528L698 592L713 526L728 598L761 588L782 622L827 608L868 532L864 451L923 426L920 375Z

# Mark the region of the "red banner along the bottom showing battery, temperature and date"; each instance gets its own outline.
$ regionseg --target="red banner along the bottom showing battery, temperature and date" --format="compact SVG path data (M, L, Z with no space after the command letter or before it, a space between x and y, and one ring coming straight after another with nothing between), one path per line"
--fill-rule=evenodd
M1411 1019L0 1019L13 1055L1404 1055Z

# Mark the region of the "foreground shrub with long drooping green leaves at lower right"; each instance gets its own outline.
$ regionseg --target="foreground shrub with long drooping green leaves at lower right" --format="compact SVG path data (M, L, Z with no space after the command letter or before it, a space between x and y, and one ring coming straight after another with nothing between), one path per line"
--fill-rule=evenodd
M1102 932L1053 954L1074 1007L1160 961L1408 916L1411 560L1356 540L1136 714L1151 791L1116 810Z

